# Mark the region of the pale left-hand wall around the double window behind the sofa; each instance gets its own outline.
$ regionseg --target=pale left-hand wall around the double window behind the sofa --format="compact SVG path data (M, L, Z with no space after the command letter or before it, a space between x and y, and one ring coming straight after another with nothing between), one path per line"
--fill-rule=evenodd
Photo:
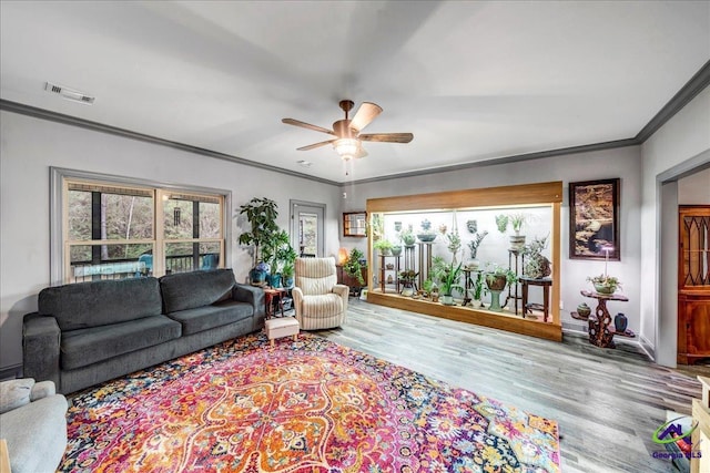
M229 189L233 214L252 197L278 204L288 228L288 200L326 204L326 254L337 254L337 186L206 157L168 146L0 112L0 370L22 362L22 316L37 309L37 294L50 282L50 166ZM237 280L252 264L239 247L243 229L232 219Z

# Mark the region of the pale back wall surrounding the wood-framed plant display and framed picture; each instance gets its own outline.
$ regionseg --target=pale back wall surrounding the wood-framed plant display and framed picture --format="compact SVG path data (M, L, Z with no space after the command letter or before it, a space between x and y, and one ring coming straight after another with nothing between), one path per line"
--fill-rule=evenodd
M564 202L561 212L561 310L562 322L581 328L569 312L585 301L580 289L591 289L587 276L604 271L604 261L569 259L569 182L602 178L621 178L620 198L620 238L621 260L609 261L609 274L617 276L623 284L623 295L629 302L610 302L612 315L621 311L629 318L629 328L637 331L640 327L639 271L640 271L640 196L641 164L638 146L570 154L544 160L519 163L473 167L456 172L430 174L425 176L379 181L344 188L347 198L342 198L343 209L364 210L368 198L412 195L440 191L480 188L501 185L529 184L536 182L562 181ZM490 228L485 228L491 232ZM491 234L497 234L493 229ZM343 239L346 247L364 248L366 240ZM589 302L587 300L587 302Z

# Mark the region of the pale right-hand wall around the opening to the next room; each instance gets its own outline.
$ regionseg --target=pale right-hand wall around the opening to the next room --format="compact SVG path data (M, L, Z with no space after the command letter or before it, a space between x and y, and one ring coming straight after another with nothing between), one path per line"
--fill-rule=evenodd
M660 237L662 225L672 225L677 212L677 186L662 189L659 175L669 171L681 172L687 163L698 165L707 161L710 150L710 88L669 120L641 146L641 333L656 350L656 360L676 366L677 345L677 286L671 273L671 254L677 254L677 237ZM666 215L661 212L666 209ZM665 220L661 218L665 216ZM676 216L677 217L677 216ZM661 258L662 255L668 258ZM661 271L661 259L663 270Z

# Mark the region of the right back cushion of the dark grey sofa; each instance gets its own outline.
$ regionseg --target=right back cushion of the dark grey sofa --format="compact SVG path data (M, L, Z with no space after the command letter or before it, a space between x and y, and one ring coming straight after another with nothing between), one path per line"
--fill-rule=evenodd
M231 297L234 287L231 269L178 273L160 278L165 313L195 309Z

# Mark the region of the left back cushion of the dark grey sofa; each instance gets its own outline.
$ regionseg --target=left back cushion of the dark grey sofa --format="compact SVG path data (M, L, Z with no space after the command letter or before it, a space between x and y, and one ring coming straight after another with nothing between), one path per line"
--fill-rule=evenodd
M102 280L48 287L38 311L53 316L62 331L158 316L162 310L155 278Z

